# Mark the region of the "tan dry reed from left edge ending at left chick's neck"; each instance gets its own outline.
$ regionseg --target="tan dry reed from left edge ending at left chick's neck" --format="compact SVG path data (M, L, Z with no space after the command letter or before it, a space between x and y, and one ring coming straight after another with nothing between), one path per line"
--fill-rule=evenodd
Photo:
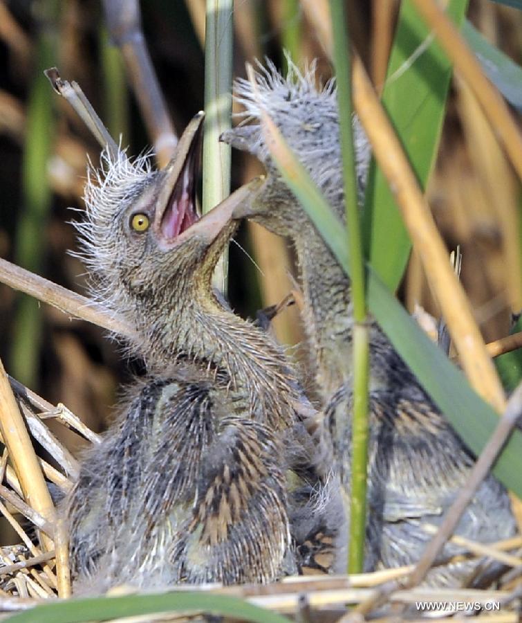
M131 325L102 305L1 258L0 282L52 305L64 314L81 318L120 336L132 338L134 334Z

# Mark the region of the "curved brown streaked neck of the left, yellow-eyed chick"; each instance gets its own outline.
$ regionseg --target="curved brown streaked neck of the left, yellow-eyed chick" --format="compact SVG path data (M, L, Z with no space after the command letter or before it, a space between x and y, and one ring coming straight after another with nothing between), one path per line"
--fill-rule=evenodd
M175 296L155 305L168 311L149 316L142 329L148 341L143 350L153 353L149 368L167 370L174 361L189 365L230 392L239 411L275 429L291 426L306 399L272 338L225 309L206 273L193 273Z

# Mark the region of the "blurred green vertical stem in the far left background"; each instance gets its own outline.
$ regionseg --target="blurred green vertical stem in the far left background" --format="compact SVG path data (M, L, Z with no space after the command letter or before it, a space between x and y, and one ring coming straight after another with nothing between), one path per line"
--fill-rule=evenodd
M41 20L50 21L55 4L37 5ZM44 14L44 9L48 14ZM26 142L22 163L23 204L17 237L15 261L32 272L41 272L45 228L52 201L47 163L53 147L53 93L44 69L55 62L53 31L41 24L35 52L35 71L30 89ZM21 296L17 305L10 357L12 374L28 387L35 387L42 336L41 309L32 298Z

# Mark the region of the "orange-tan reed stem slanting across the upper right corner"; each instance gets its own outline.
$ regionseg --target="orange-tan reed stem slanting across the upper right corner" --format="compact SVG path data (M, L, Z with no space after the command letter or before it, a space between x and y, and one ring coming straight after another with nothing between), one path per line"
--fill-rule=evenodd
M522 134L503 97L485 77L474 53L436 1L413 0L413 3L430 28L433 28L455 69L472 89L493 132L522 180Z

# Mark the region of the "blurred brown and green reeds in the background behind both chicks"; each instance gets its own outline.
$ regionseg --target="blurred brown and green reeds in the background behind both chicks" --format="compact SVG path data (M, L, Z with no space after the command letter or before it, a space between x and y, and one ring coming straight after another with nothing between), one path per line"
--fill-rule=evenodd
M394 0L349 0L353 40L378 89L386 74L398 10ZM178 132L203 107L204 0L142 2L143 28L153 64ZM521 58L522 12L490 0L471 0L468 17L493 44ZM234 2L234 75L245 60L270 57L284 66L282 48L303 64L317 58L326 81L331 67L297 0ZM56 65L77 80L122 145L137 154L149 145L127 87L117 49L109 43L99 1L0 0L0 257L84 292L68 208L82 207L87 156L99 148L42 71ZM259 172L233 156L233 184ZM447 242L460 245L461 279L486 341L505 336L522 308L521 196L474 96L455 79L429 202ZM243 226L230 250L229 294L243 316L279 303L295 288L290 249L258 226ZM242 249L241 249L242 247ZM244 249L244 251L243 251ZM246 251L246 253L245 253ZM252 256L253 260L249 258ZM438 316L420 262L412 256L400 296ZM0 356L20 381L52 404L63 402L95 430L103 428L120 382L140 371L126 365L101 329L70 320L0 285ZM296 307L274 321L284 343L299 345ZM304 359L299 346L297 357Z

